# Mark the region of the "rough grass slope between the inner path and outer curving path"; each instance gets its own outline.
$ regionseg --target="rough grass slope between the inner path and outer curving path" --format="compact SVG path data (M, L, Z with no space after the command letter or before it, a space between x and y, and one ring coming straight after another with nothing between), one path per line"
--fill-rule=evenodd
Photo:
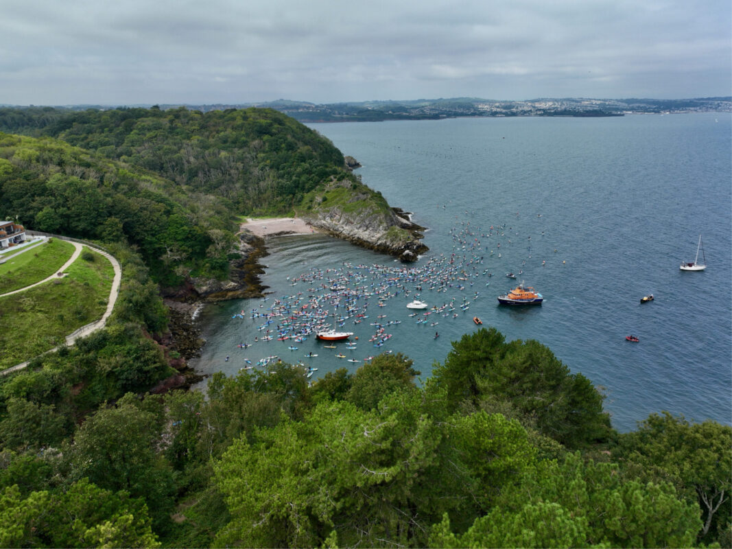
M0 298L0 369L48 351L75 329L102 318L114 269L98 253L92 253L94 261L83 255L66 277Z

